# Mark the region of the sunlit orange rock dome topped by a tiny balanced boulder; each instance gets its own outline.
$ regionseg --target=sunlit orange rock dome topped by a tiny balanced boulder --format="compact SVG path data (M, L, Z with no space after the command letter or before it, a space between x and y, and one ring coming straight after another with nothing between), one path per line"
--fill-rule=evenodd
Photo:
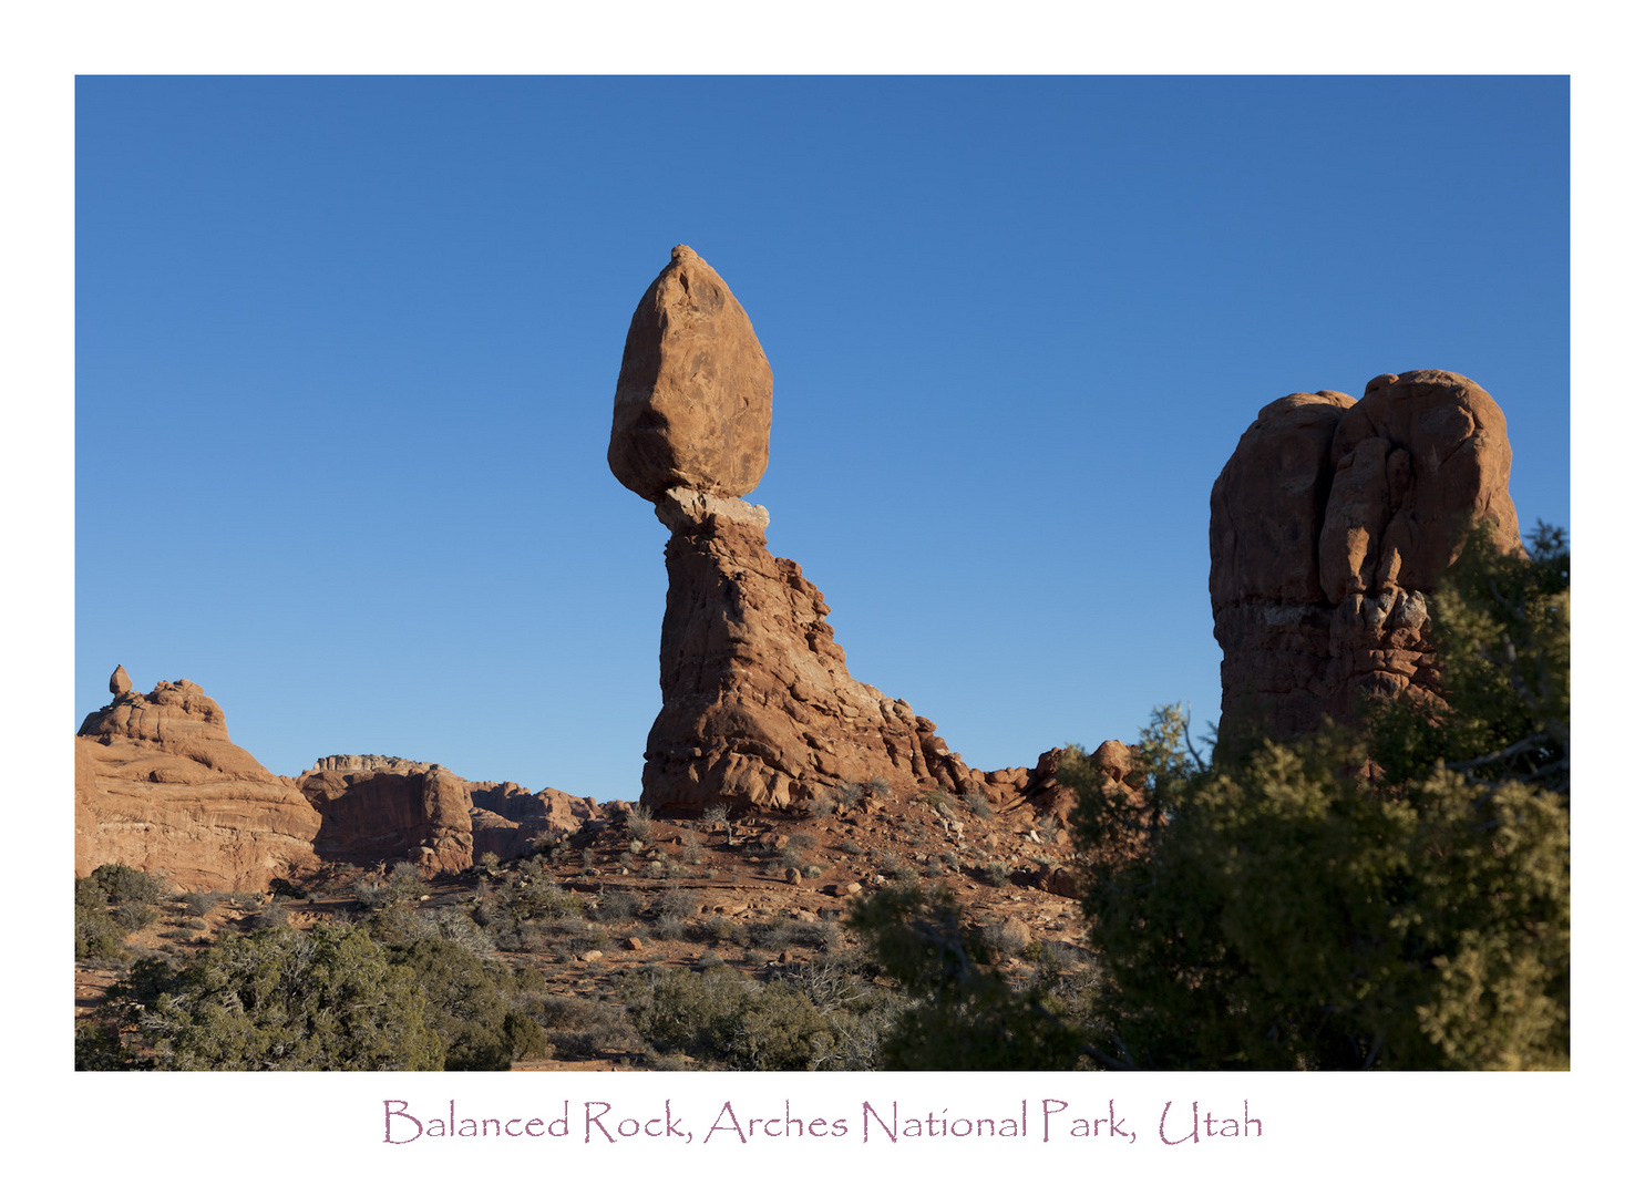
M319 867L319 814L229 739L197 684L145 696L115 670L110 689L74 739L76 875L127 864L184 888L247 890Z

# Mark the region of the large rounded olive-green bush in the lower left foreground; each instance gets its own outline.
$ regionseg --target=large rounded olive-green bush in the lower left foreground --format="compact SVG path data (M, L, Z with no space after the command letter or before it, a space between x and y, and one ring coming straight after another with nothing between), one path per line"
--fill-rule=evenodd
M99 1022L161 1069L433 1071L444 1048L426 1015L413 974L364 928L319 926L230 938L178 972L145 959Z

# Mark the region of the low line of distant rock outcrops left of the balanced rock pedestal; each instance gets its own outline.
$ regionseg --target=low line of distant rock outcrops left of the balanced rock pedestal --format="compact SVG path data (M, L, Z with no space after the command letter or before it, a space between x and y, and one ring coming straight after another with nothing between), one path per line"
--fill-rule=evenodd
M403 859L434 875L485 852L510 859L599 814L589 798L400 757L332 755L276 776L229 739L222 707L192 681L146 696L125 686L74 739L76 875L128 864L184 888L257 890L324 864Z

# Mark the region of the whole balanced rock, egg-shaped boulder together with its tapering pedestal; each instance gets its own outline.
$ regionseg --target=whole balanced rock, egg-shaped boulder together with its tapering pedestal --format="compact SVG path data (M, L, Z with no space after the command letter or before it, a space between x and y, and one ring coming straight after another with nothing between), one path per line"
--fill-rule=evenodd
M744 502L765 471L772 375L725 283L679 245L628 327L607 459L655 503L665 549L663 709L642 803L786 809L841 783L977 793L1003 809L1048 773L967 767L936 724L852 679L821 591L765 543Z

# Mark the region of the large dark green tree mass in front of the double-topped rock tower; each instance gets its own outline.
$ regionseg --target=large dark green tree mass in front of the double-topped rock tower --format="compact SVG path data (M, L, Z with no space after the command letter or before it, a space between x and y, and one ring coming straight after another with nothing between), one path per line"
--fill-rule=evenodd
M1476 533L1434 597L1444 709L1216 767L1165 709L1140 803L1068 753L1112 1056L1568 1066L1568 577L1559 533L1528 559Z

